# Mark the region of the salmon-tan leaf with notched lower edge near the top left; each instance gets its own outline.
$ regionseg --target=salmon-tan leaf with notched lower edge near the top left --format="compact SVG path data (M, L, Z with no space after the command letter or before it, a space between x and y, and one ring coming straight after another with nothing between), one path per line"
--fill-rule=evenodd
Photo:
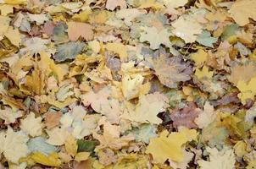
M81 22L69 22L68 35L70 41L77 41L80 36L90 41L93 38L92 26Z

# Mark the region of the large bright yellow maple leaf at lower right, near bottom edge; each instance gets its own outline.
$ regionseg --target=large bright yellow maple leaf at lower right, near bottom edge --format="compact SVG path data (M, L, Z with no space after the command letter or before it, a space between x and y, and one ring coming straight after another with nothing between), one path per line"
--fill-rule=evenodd
M197 137L198 133L195 129L183 128L181 132L171 134L164 130L158 138L150 140L146 153L153 155L153 160L159 163L164 163L168 159L181 162L185 157L183 144L195 140Z

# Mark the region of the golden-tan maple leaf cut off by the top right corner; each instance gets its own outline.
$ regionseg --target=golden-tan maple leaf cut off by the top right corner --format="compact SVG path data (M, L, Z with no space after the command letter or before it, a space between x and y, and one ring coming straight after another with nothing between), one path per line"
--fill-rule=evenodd
M229 12L238 25L244 26L249 23L249 18L256 20L256 4L253 0L236 1L232 4Z

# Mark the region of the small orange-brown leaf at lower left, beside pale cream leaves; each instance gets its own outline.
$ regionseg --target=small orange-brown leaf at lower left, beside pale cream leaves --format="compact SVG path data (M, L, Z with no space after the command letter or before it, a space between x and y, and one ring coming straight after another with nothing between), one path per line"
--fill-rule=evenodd
M59 119L62 117L62 112L47 112L45 117L45 125L47 129L54 128L58 126Z

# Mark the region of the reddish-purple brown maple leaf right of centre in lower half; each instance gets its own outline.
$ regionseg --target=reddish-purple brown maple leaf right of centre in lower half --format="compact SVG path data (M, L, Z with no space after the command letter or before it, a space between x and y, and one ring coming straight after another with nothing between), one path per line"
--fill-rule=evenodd
M198 128L194 120L198 117L199 112L200 109L197 108L196 104L190 102L186 107L171 112L170 118L175 127L185 126L186 128Z

